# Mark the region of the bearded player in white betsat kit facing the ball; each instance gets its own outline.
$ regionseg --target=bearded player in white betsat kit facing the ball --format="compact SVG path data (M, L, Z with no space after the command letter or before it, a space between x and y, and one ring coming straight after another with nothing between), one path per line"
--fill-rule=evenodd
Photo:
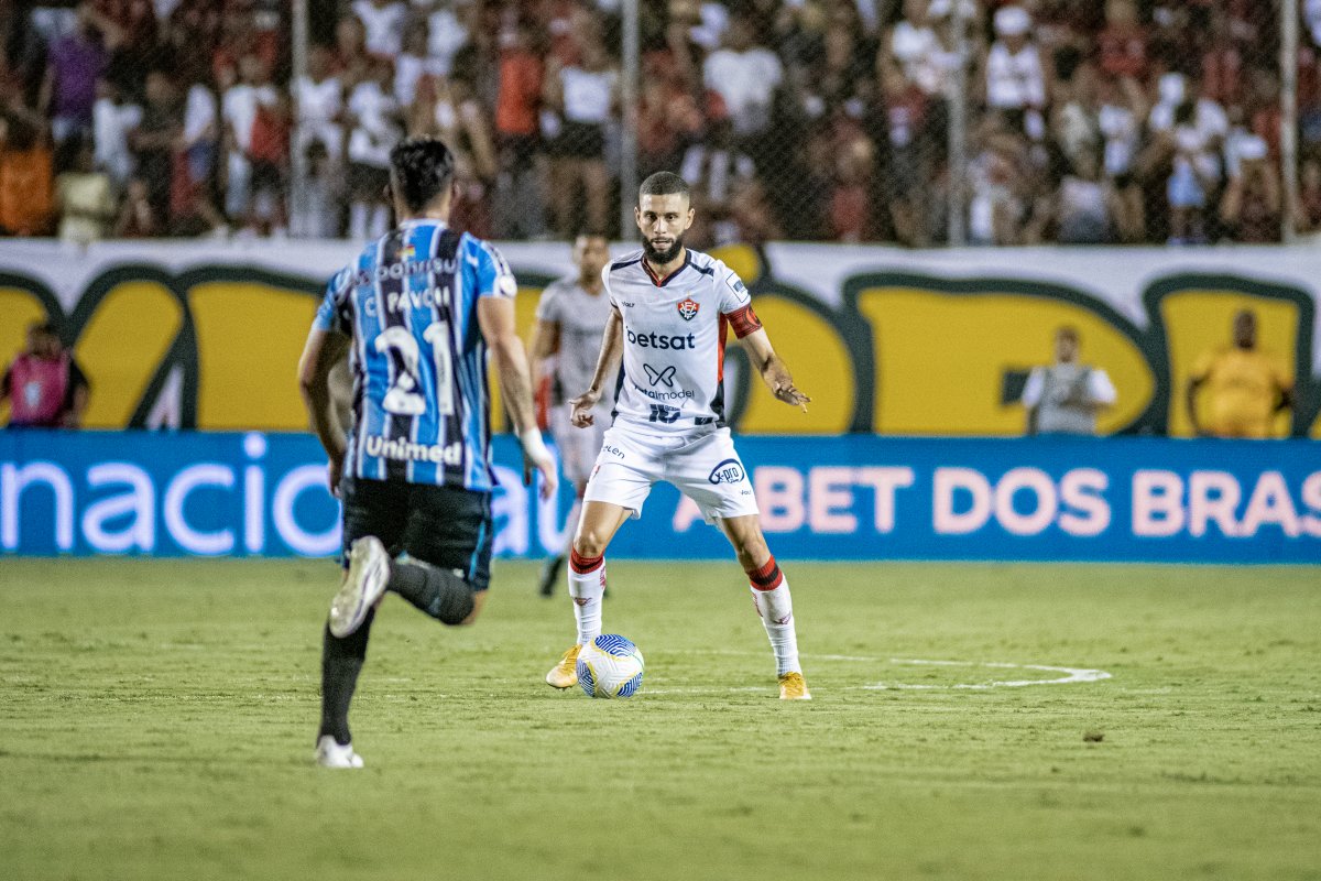
M789 581L766 547L748 470L725 427L727 328L742 339L775 398L803 412L810 399L775 355L738 276L683 246L692 226L683 178L658 172L643 181L634 217L642 250L601 273L610 316L592 383L569 402L573 425L593 425L608 378L614 386L614 424L588 479L569 552L577 642L546 682L555 688L577 683L579 651L601 633L605 549L629 516L641 516L651 485L668 481L733 544L770 638L781 699L811 700L798 662Z

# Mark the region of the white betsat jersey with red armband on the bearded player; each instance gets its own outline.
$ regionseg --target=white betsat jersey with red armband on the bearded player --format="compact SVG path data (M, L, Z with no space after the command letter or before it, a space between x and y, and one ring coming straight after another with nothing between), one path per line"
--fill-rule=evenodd
M609 264L601 277L624 317L616 425L666 432L723 427L725 328L733 322L742 337L761 326L738 276L688 250L680 268L657 279L638 250Z

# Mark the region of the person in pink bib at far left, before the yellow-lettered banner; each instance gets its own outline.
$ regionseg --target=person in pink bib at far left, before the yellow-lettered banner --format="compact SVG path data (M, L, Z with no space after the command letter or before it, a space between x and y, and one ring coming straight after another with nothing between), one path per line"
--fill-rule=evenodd
M55 326L28 326L28 347L0 378L0 402L9 400L9 428L78 428L90 384Z

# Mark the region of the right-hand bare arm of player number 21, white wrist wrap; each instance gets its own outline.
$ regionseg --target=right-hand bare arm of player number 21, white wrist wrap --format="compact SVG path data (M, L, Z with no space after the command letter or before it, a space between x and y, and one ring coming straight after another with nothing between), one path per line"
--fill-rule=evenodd
M495 362L495 380L514 429L523 445L523 481L531 483L532 470L542 474L542 497L555 495L555 461L542 441L532 407L532 382L527 372L527 353L514 322L514 300L482 297L477 301L477 325Z

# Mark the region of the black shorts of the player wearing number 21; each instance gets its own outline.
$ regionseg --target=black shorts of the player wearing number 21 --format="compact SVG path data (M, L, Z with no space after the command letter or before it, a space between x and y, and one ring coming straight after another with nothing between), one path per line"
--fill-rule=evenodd
M490 585L490 493L345 477L339 497L343 499L343 565L349 565L353 543L374 535L390 556L407 553L441 569L457 569L473 590Z

